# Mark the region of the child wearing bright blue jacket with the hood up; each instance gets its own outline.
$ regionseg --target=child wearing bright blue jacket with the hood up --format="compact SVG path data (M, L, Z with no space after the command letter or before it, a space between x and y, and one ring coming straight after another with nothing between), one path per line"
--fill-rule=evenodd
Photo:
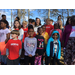
M53 31L50 39L48 40L47 48L47 65L50 62L50 57L53 58L53 65L57 62L59 63L59 59L61 57L61 42L60 42L60 35L58 31Z

